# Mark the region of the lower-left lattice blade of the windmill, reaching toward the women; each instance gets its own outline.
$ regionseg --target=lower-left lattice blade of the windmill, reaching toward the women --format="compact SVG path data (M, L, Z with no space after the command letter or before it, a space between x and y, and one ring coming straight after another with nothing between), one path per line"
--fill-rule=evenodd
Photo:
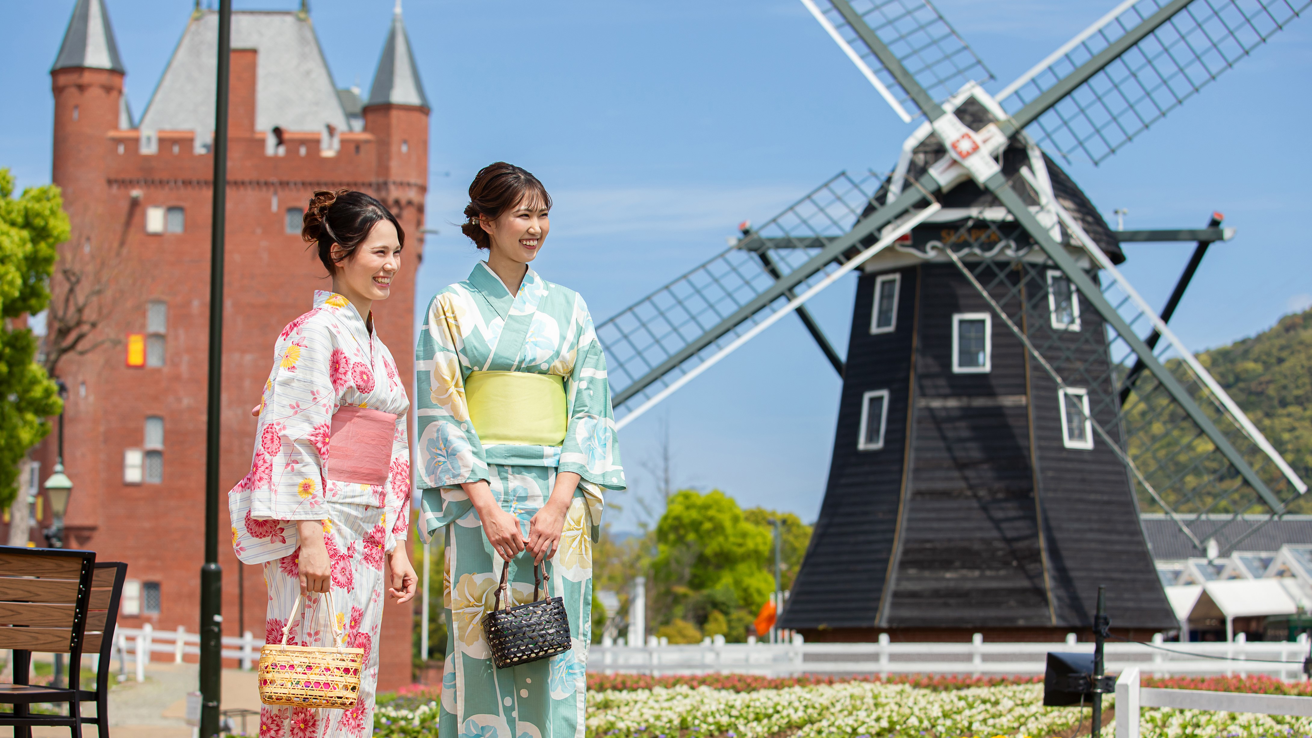
M740 316L743 320L735 319L775 284L753 244L769 244L781 277L792 275L833 239L851 229L880 184L872 174L855 178L840 173L739 246L726 249L597 325L617 418L789 303L781 295ZM819 282L837 263L806 274L795 290L800 292Z

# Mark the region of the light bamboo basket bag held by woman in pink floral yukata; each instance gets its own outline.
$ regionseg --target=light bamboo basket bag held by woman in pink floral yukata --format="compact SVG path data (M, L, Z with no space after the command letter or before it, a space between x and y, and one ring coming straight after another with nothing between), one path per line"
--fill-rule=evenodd
M291 606L287 625L282 629L282 644L266 644L260 649L260 701L266 705L293 705L299 708L356 707L359 695L359 672L363 669L365 649L348 649L328 598L328 620L332 621L336 648L287 645L287 633L297 619L306 595ZM319 598L323 602L323 598ZM318 611L318 603L315 611Z

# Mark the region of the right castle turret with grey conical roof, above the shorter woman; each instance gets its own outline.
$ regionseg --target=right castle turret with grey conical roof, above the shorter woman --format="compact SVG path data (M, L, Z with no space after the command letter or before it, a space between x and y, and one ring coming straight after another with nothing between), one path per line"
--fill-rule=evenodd
M387 193L387 204L416 236L422 227L428 184L428 111L398 0L365 102L365 130L378 140L378 180Z

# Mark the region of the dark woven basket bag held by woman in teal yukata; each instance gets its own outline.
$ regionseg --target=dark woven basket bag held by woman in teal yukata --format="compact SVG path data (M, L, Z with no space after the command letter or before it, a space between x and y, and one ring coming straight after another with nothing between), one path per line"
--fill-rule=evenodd
M551 575L542 572L539 578L537 564L533 566L533 602L501 610L502 595L506 595L505 603L510 604L506 590L509 566L509 561L501 562L501 585L496 590L496 602L492 611L483 616L483 632L496 667L506 669L551 658L573 648L569 642L569 617L565 615L564 599L539 599L541 594L546 594L546 582Z

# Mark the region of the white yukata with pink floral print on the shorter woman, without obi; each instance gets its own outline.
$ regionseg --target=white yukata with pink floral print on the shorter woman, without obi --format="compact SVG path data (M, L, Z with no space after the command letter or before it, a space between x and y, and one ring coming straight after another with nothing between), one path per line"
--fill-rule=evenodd
M345 405L396 416L391 471L382 485L324 477L332 416ZM287 642L332 645L328 619L336 619L345 645L365 649L365 670L354 708L265 705L261 738L373 733L378 684L374 644L383 616L386 553L405 540L409 528L408 410L405 385L387 346L346 298L316 291L314 309L278 336L251 472L228 493L232 548L243 562L264 564L266 642L277 644L300 592L297 520L321 520L332 562L333 611L328 611L327 598L310 595Z

